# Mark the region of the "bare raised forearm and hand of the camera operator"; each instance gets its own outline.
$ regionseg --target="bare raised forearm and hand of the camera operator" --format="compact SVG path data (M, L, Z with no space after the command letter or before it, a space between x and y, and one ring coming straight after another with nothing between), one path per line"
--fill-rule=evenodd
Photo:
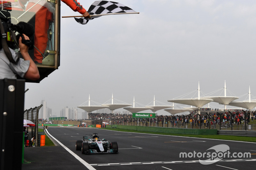
M22 34L24 36L25 40L29 40L29 37L25 34ZM29 60L29 67L28 67L28 71L25 74L25 78L29 79L29 80L38 80L40 78L40 74L39 71L37 69L36 64L34 63L34 61L31 59L30 55L28 54L28 46L23 44L22 42L22 38L19 38L19 48L20 48L20 54L23 56L24 60Z

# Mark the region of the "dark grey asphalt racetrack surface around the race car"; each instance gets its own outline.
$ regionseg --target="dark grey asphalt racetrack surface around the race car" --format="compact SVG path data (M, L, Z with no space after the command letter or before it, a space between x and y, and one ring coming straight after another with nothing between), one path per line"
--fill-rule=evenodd
M49 127L47 131L57 141L58 146L24 148L26 163L22 164L22 169L242 170L255 169L256 167L255 143L81 127ZM85 134L92 133L98 133L100 139L106 138L109 141L116 141L119 153L84 155L81 151L76 151L76 140L82 139ZM241 158L229 156L221 158L219 161L216 158L208 161L205 160L209 158L198 158L200 153L206 152L211 152L211 156L215 156L217 151L214 153L214 150L208 149L216 145L223 146L223 144L229 147L231 156L234 153L240 153L238 156ZM190 158L180 158L180 152L190 154ZM194 154L195 157L191 157L191 153L195 152L197 155ZM243 157L245 152L250 152L251 158ZM204 162L200 162L199 159L204 160Z

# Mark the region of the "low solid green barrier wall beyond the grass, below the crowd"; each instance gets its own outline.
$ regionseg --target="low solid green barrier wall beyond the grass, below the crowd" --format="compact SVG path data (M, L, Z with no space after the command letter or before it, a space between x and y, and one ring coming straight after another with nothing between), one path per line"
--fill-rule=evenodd
M126 130L137 130L144 132L186 134L186 135L217 135L217 129L181 129L181 128L162 128L147 126L125 126L125 125L106 125L106 128L117 128Z

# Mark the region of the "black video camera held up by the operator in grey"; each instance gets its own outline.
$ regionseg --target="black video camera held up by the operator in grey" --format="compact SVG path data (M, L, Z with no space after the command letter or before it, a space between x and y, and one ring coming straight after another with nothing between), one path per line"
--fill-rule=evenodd
M12 49L18 48L19 38L21 36L22 38L21 42L23 44L26 44L29 47L29 49L33 49L35 31L34 31L34 27L31 24L21 21L17 25L15 25L11 23L11 19L9 18L4 18L1 16L0 18L4 28L4 33L6 34L6 42L9 48L12 48ZM19 34L15 35L15 32L18 32ZM2 34L3 33L0 34L0 38L3 37ZM29 37L29 40L25 40L22 34L27 35ZM2 41L0 41L0 49L3 48Z

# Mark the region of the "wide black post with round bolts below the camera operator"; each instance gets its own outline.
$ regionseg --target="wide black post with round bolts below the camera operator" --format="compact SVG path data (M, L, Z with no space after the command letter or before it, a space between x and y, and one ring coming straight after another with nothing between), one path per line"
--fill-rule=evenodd
M0 169L21 169L25 80L0 80ZM15 126L10 126L15 125ZM10 140L15 139L15 140ZM11 146L11 147L10 147ZM15 155L15 156L14 156Z

